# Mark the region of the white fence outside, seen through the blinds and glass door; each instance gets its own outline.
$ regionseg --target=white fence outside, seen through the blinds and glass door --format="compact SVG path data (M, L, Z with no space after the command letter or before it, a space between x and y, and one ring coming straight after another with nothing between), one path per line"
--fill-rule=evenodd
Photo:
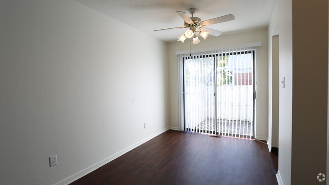
M253 85L217 86L216 90L217 119L253 121ZM214 87L204 88L203 93L189 91L185 94L187 121L197 125L204 119L215 119Z

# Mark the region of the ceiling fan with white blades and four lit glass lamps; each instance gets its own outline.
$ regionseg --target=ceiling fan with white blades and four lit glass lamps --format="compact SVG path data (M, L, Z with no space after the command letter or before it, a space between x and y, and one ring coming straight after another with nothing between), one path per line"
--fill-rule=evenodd
M185 12L176 11L177 14L184 19L184 26L175 27L175 28L158 29L158 30L153 30L153 31L161 31L161 30L177 29L177 28L189 28L188 30L185 31L185 33L182 36L178 37L177 41L182 41L184 43L184 40L186 38L193 37L192 43L197 44L200 42L200 40L196 36L197 32L199 33L200 36L203 37L203 39L206 39L209 34L214 35L214 36L219 36L222 34L222 32L220 32L220 31L217 31L217 30L214 30L211 28L207 28L205 26L234 20L234 15L228 14L225 16L201 21L200 18L193 17L194 13L196 12L195 8L188 9L188 11L192 15L192 17L189 17L188 14Z

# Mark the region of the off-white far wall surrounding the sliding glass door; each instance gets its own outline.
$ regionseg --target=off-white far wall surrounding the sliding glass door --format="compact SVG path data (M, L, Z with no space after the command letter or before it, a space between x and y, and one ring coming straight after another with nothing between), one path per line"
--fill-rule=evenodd
M200 43L192 44L192 49L224 47L228 45L243 44L261 41L262 45L257 47L256 58L256 136L267 139L268 129L268 43L267 29L249 32L226 34L218 37L209 36L206 40L201 38ZM169 126L178 128L178 76L176 51L189 50L189 40L182 42L171 42L168 44L168 83L169 83Z

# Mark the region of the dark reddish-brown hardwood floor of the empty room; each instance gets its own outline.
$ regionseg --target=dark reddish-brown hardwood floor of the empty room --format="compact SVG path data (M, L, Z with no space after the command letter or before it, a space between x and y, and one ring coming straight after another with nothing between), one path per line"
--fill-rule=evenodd
M71 184L277 184L277 155L255 140L168 130Z

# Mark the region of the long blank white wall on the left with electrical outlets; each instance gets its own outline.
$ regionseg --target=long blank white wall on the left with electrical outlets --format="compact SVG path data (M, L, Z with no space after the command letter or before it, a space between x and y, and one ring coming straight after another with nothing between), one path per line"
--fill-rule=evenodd
M1 7L0 184L53 184L167 128L166 43L73 1Z

